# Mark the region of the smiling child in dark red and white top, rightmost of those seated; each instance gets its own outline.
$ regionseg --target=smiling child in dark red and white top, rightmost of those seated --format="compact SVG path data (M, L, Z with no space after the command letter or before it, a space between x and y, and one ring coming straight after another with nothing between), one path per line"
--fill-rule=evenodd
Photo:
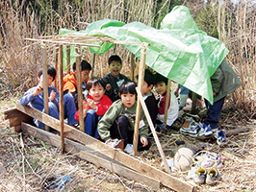
M160 101L158 103L158 116L157 119L164 124L165 118L165 108L166 108L166 89L167 89L167 78L161 74L156 74L156 91L160 94ZM167 119L166 125L171 126L173 122L178 118L179 115L179 104L173 91L170 91L169 101L168 101Z

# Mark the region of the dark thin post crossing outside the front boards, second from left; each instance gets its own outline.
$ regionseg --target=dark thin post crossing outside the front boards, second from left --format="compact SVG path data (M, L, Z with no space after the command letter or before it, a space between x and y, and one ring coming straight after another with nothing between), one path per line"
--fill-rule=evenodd
M60 87L60 128L61 128L61 150L64 153L64 65L63 65L63 45L59 46L59 87Z

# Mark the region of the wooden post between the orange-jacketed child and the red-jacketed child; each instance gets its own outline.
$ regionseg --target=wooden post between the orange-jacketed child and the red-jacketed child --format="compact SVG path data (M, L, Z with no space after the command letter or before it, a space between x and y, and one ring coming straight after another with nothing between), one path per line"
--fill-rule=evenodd
M78 94L78 110L79 110L79 125L80 131L85 132L84 115L83 115L83 94L81 80L81 56L76 57L76 78L77 78L77 94Z

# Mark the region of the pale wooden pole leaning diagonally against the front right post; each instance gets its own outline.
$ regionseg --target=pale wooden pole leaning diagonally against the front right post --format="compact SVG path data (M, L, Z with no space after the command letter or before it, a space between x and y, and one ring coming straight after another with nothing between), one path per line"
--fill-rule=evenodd
M159 142L159 139L158 139L157 133L155 131L155 128L154 128L152 119L150 117L150 114L148 112L148 109L146 108L145 101L144 101L144 99L142 97L142 94L141 94L141 90L139 89L139 87L136 87L136 91L138 93L138 99L139 99L139 101L141 103L141 106L142 106L142 108L144 110L147 123L149 125L149 128L150 128L150 130L151 130L151 132L152 132L152 134L154 136L155 142L157 144L158 151L159 151L159 153L160 153L160 155L161 155L161 157L163 159L163 162L164 162L164 165L165 165L165 168L166 168L166 172L170 173L170 169L169 169L168 163L166 161L166 156L165 156L164 151L163 151L163 149L161 147L161 144Z

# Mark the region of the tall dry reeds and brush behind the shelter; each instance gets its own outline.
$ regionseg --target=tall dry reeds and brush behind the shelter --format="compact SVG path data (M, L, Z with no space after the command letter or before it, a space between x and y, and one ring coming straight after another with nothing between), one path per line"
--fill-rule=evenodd
M230 50L227 60L243 85L229 95L226 106L238 110L246 121L255 118L256 11L249 0L0 0L1 99L23 94L37 84L41 45L24 38L57 35L60 28L85 30L89 23L104 18L140 21L159 28L166 13L177 5L189 7L199 29L220 39ZM48 46L47 62L54 65L57 54L57 47ZM130 77L132 55L118 45L96 56L93 75L108 72L107 60L112 54L122 58L122 73ZM83 59L91 61L89 50L84 50Z

